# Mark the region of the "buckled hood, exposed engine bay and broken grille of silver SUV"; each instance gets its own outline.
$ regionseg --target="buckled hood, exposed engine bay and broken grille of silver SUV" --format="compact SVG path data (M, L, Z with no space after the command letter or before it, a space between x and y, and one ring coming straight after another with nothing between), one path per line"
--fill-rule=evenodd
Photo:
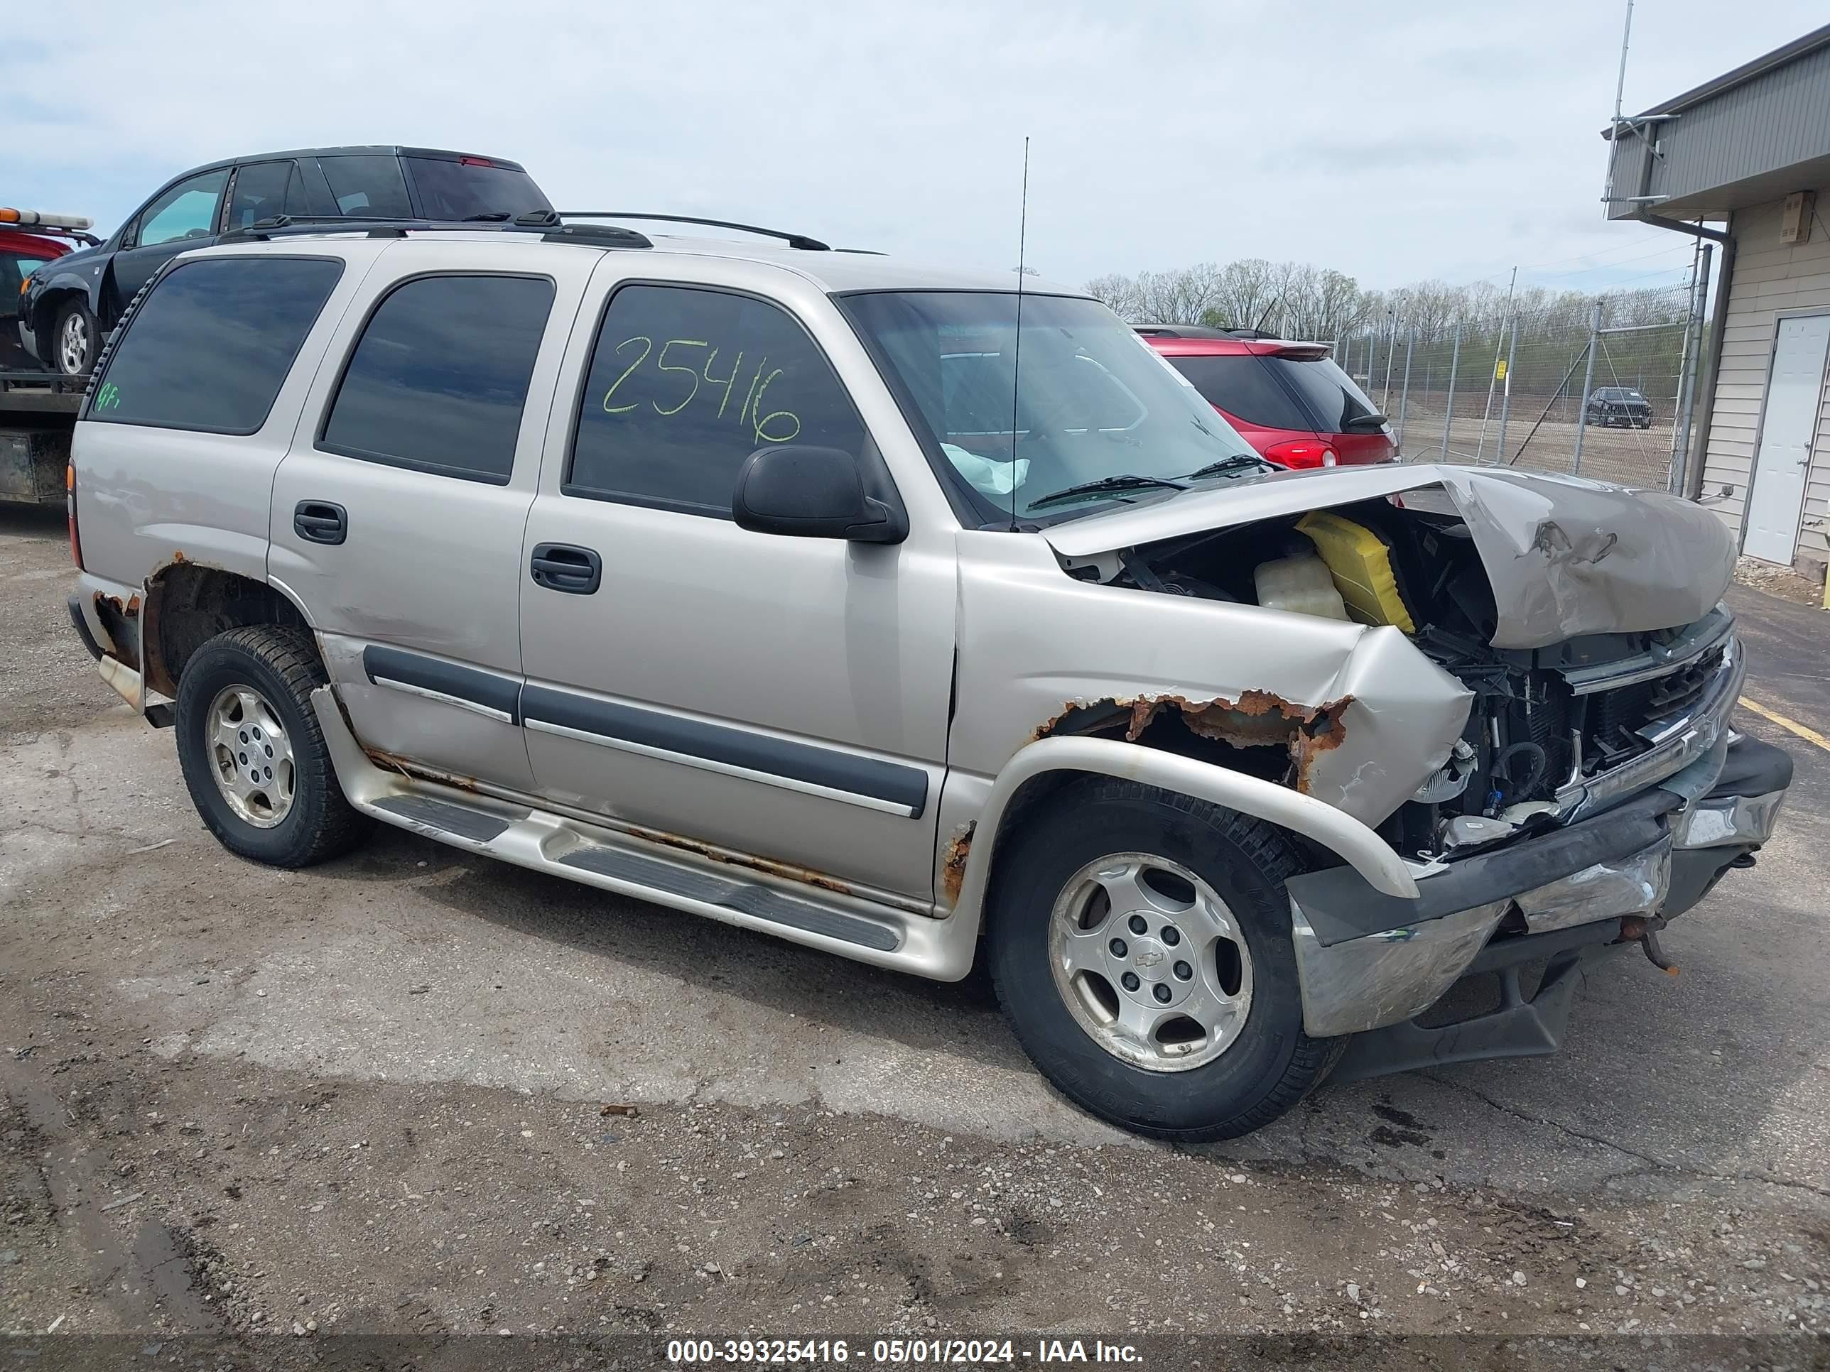
M1715 743L1689 728L1698 702L1740 673L1731 618L1717 607L1733 558L1715 516L1596 483L1466 468L1400 468L1367 496L1352 477L1334 490L1308 483L1279 492L1279 510L1263 494L1274 485L1239 492L1255 516L1244 523L1184 532L1200 510L1175 501L1158 510L1180 516L1173 525L1151 531L1147 512L1089 520L1063 531L1058 551L1071 574L1113 587L1394 627L1393 657L1420 655L1459 682L1468 708L1427 756L1358 746L1345 697L1301 710L1286 739L1259 721L1217 721L1235 745L1286 743L1292 785L1376 823L1404 856L1435 862L1598 812ZM1323 494L1347 499L1314 503ZM1067 551L1100 523L1127 521L1164 536ZM1259 699L1276 695L1254 688L1233 708ZM1200 732L1199 712L1169 702ZM1305 728L1318 712L1334 724L1325 741ZM1400 772L1411 783L1402 796L1383 785L1382 809L1352 803L1367 777Z

